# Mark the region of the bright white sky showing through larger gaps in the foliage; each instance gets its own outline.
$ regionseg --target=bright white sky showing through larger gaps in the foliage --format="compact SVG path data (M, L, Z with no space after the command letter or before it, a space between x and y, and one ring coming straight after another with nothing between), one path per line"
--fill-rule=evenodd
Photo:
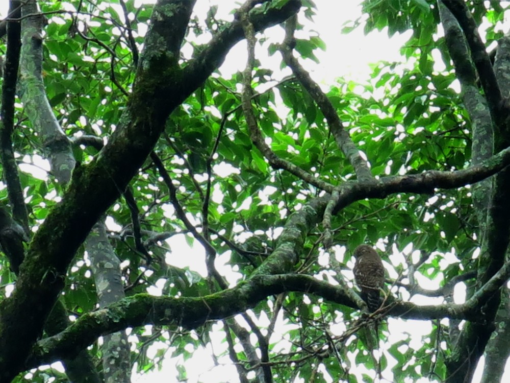
M210 4L213 3L209 0L199 0L197 7L205 7L207 9ZM216 2L214 2L216 3ZM327 89L330 84L334 84L335 79L338 77L344 77L348 80L354 80L358 82L364 82L369 79L370 68L369 63L377 61L400 61L401 57L399 54L399 48L402 43L407 39L409 35L398 36L395 35L391 40L387 37L386 33L372 32L368 36L364 36L363 30L351 32L349 35L342 35L341 30L344 23L348 20L354 20L361 14L361 8L359 7L358 0L348 1L330 1L330 0L315 0L318 7L317 15L315 16L315 23L313 29L315 29L320 37L326 43L326 52L316 51L315 54L320 60L320 64L315 62L305 62L304 66L310 70L312 77L315 81L319 82L323 89ZM231 8L236 4L233 0L228 2L222 0L222 5L229 5ZM0 15L5 16L7 13L7 1L0 2ZM305 22L304 18L300 19L301 22ZM282 34L283 30L279 27L272 28L268 31L268 34ZM299 37L299 36L297 36ZM260 51L259 51L260 52ZM279 55L275 54L272 58L261 59L263 65L267 64L273 70L277 70L279 67ZM244 42L237 44L233 51L226 58L225 63L221 67L221 72L224 75L235 73L236 71L242 71L246 63L246 49ZM285 76L287 74L284 74ZM282 76L282 77L283 77ZM185 249L187 247L184 238L178 236L173 237L172 248L173 249ZM184 267L190 266L191 269L204 274L203 264L203 250L196 248L193 249L193 258L195 259L194 265L176 264L175 266ZM188 250L189 251L189 250ZM175 258L175 257L173 257ZM183 257L180 257L183 258ZM221 270L221 264L224 264L226 259L218 259L218 268ZM171 258L168 258L171 260ZM189 258L188 258L189 259ZM226 271L226 269L225 269ZM430 288L436 288L437 286L430 286ZM158 294L157 289L154 289L152 293ZM282 321L278 326L283 328ZM150 326L146 326L147 332L150 333ZM225 350L225 344L222 343L223 333L220 330L219 325L215 325L217 332L211 334L212 344L214 351L218 354L219 350ZM390 332L393 336L393 341L396 341L401 337L400 334L409 332L413 334L413 340L410 343L410 347L419 347L421 344L421 336L428 333L430 324L423 321L407 321L401 320L389 320ZM275 337L278 337L278 331L275 332ZM272 339L271 341L274 341ZM285 344L285 342L284 342ZM151 349L152 353L156 353L156 348ZM170 351L168 351L168 354ZM211 358L210 350L200 349L194 352L192 358L184 362L186 370L188 372L188 382L218 382L218 381L237 381L237 372L231 365L228 356L222 356L219 358L220 366L216 366ZM133 383L149 383L149 382L168 382L173 381L176 376L176 363L183 363L182 358L166 358L163 362L163 370L161 372L149 373L143 376L133 375ZM392 365L391 360L389 361L390 366ZM353 364L353 366L355 366ZM480 380L481 369L478 369L475 379L475 383ZM508 369L507 369L508 370ZM388 370L387 370L388 371ZM355 368L351 369L351 373L355 372ZM387 374L384 372L387 378L391 379L391 373ZM506 373L506 381L510 381L509 374ZM359 375L358 375L359 376ZM420 379L418 383L427 382L428 379ZM505 378L503 378L505 381Z

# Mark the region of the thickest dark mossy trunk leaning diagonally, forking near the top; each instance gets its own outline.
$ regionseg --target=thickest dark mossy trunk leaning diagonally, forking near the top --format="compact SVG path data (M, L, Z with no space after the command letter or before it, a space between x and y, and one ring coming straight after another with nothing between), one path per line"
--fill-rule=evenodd
M300 3L289 2L278 9L253 12L254 26L260 30L275 25L299 7ZM0 303L0 380L12 380L23 368L64 286L72 257L149 155L169 113L207 79L242 38L239 23L232 23L202 51L199 60L181 71L179 55L175 55L181 41L175 36L184 35L181 26L183 18L187 25L188 11L188 2L160 0L156 4L133 93L117 129L93 162L74 170L62 201L34 236L14 293ZM39 34L27 41L28 46L32 43L42 43Z

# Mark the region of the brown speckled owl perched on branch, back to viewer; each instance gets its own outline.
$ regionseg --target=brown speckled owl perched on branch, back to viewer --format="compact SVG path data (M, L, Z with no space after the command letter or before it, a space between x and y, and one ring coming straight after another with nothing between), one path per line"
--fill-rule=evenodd
M380 289L384 286L384 266L377 252L369 245L354 250L354 280L361 289L361 297L371 313L380 307Z

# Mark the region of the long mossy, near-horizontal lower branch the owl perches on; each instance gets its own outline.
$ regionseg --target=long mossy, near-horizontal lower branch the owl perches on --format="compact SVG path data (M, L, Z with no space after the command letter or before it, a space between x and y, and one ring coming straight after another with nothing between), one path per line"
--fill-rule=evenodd
M510 262L465 304L418 306L410 302L388 300L381 312L406 319L467 319L483 322L479 308L510 276ZM99 336L126 327L145 324L179 325L196 328L209 320L231 317L253 308L270 295L297 291L313 294L338 304L359 308L340 285L315 279L309 275L258 275L241 282L233 289L205 297L153 297L138 294L113 303L105 309L83 315L72 326L57 336L37 343L28 362L28 368L51 363L62 355L73 355L95 341Z

